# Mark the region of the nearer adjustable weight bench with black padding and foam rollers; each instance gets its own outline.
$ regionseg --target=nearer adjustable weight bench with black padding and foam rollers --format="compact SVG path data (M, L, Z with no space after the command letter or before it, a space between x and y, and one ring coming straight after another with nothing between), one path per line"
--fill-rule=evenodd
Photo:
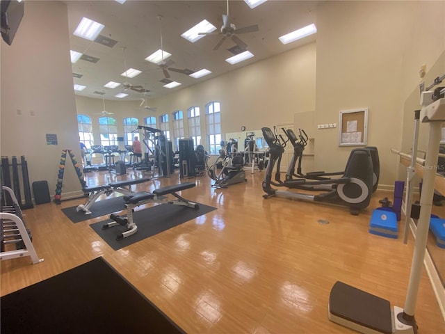
M177 191L182 191L186 189L193 188L195 186L194 182L185 182L180 184L173 184L172 186L165 186L154 190L152 193L143 191L140 193L134 193L133 195L124 196L125 207L127 207L127 216L122 217L117 214L111 214L110 223L105 223L102 226L102 230L107 228L112 228L113 226L122 225L127 227L127 231L118 234L116 240L122 240L127 238L136 232L138 232L138 226L133 221L133 209L139 205L144 205L147 203L162 203L162 204L172 204L172 205L184 205L185 207L191 207L192 209L198 209L199 205L195 202L191 202L182 198L177 194ZM164 195L171 194L175 196L176 200L169 200L163 197Z

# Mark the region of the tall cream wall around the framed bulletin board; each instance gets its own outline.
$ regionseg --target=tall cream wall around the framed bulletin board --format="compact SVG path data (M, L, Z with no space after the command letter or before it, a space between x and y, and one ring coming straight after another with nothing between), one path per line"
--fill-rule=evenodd
M443 13L444 1L327 1L317 9L316 124L368 107L380 186L397 180L389 148L401 146L403 104L421 63L444 49ZM338 129L318 130L315 138L316 166L341 168L350 148L338 146Z

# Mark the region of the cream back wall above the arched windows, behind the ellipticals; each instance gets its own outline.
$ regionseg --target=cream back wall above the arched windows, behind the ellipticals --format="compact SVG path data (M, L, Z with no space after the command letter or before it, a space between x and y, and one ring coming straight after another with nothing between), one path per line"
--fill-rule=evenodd
M315 108L316 45L311 43L216 79L159 97L159 113L184 112L211 101L222 104L221 131L238 132L293 123L293 114ZM204 128L204 120L202 127Z

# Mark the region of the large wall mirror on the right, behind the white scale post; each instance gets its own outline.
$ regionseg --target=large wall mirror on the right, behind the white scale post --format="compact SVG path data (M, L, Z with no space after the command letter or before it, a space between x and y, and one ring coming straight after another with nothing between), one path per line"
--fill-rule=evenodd
M439 56L436 63L427 69L426 75L423 78L425 81L425 86L428 87L432 84L437 77L442 77L445 74L445 51ZM445 86L445 82L441 86ZM437 87L437 86L436 86ZM414 135L414 110L420 109L420 90L419 87L414 88L410 96L405 100L404 111L403 111L403 137L402 137L402 152L411 153L413 145L413 135ZM445 123L443 124L445 127ZM443 133L445 130L442 131ZM428 125L421 123L419 127L419 146L418 152L416 152L417 157L424 159L426 150L428 149ZM444 144L441 144L444 145ZM445 148L444 148L445 149ZM440 164L440 161L438 161ZM439 166L438 164L438 166ZM443 166L445 168L445 166ZM405 177L406 180L406 167L400 164L399 166L401 177ZM439 168L438 168L439 173ZM437 174L436 177L445 177ZM413 196L413 200L419 200L419 184L421 179L419 177L414 177L412 180L414 191L416 194ZM432 214L435 214L439 218L444 219L445 223L445 193L439 193L435 191L435 200L432 205ZM442 246L443 247L443 246ZM427 250L430 254L432 262L435 264L435 269L437 274L442 280L442 285L445 288L445 248L437 245L437 239L431 230L428 234L428 244Z

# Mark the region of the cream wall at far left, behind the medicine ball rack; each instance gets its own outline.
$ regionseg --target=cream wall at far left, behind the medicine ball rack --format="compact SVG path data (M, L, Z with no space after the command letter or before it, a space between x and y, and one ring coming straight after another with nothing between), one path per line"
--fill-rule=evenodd
M61 150L74 150L80 160L72 85L67 7L59 1L25 1L12 45L1 41L0 149L2 156L24 155L31 183L47 180L51 196ZM57 134L58 145L47 145L46 134ZM63 197L79 189L68 165Z

